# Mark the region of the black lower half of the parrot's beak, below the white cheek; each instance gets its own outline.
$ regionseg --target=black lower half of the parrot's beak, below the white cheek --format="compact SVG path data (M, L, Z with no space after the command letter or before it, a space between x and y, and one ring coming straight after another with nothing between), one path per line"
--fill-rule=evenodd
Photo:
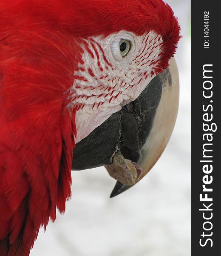
M121 116L118 111L75 145L72 169L91 169L112 163L113 154L120 148Z

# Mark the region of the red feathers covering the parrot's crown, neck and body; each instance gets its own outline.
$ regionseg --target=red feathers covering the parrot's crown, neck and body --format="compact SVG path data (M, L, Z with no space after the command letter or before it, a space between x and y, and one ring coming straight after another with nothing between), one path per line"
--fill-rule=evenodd
M161 0L0 1L1 256L29 255L40 226L71 196L76 110L68 104L81 38L150 29L163 38L166 68L179 26Z

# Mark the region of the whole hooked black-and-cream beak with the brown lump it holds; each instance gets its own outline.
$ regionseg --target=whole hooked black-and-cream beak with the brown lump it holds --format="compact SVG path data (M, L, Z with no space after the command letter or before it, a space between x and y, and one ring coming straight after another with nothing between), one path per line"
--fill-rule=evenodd
M172 134L179 99L175 59L139 97L112 114L73 150L73 170L105 166L117 180L111 197L139 182L161 156Z

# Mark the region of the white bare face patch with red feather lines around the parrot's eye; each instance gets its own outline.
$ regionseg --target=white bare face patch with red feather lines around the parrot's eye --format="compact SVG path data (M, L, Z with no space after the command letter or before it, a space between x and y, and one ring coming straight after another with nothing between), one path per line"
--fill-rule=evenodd
M142 93L156 76L163 44L153 31L142 36L120 31L83 40L81 48L71 88L77 108L76 143Z

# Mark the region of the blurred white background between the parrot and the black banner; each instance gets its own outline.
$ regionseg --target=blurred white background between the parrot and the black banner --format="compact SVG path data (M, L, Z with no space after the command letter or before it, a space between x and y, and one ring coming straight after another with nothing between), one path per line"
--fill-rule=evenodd
M181 24L176 59L180 108L173 135L151 172L110 199L115 180L104 168L73 172L72 198L32 256L190 256L190 0L168 0Z

